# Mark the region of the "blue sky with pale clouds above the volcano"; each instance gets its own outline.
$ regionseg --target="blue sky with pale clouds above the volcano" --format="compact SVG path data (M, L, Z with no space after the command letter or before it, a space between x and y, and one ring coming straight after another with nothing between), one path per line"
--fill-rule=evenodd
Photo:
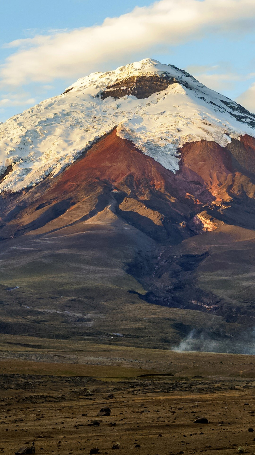
M254 0L2 0L0 121L146 57L255 111L254 25Z

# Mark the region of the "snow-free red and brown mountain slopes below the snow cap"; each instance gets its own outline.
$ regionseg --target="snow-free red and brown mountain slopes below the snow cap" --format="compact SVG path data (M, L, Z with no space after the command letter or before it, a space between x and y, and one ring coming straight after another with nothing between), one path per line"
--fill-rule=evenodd
M2 284L21 286L11 291L15 304L26 312L29 299L34 318L44 314L47 333L118 332L118 318L100 329L76 319L96 309L107 314L105 304L113 311L120 305L123 315L131 302L165 305L168 318L174 308L186 308L193 325L170 330L179 338L206 328L204 319L192 316L194 309L209 311L206 333L213 336L220 336L213 318L226 334L253 325L255 139L244 136L226 148L191 142L180 153L180 170L173 174L114 130L59 176L0 195ZM57 325L49 323L49 311L66 317L70 308L82 316L59 321L56 313ZM24 318L32 322L21 313L8 330L18 324L27 333ZM174 314L173 324L183 324L183 313ZM133 326L122 330L132 333ZM146 330L153 338L155 321ZM168 339L174 343L173 335Z

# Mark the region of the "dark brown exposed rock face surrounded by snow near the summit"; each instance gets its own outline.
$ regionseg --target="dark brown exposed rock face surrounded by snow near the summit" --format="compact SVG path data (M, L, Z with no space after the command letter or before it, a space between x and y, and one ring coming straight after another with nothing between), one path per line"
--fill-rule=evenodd
M109 85L102 93L103 100L108 96L118 99L121 96L133 95L139 99L148 98L157 91L167 89L174 83L173 77L162 76L133 76Z

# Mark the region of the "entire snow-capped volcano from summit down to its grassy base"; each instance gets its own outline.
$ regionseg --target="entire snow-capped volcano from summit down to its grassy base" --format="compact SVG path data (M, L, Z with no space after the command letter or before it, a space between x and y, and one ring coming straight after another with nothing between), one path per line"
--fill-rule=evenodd
M254 114L145 59L1 124L0 173L1 333L252 352Z

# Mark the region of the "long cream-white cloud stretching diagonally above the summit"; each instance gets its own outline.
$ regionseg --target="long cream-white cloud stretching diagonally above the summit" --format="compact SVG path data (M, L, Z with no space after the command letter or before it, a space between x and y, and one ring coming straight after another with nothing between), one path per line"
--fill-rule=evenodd
M14 86L75 78L102 69L105 62L122 64L157 47L210 32L245 33L254 25L254 0L161 0L102 25L15 40L8 46L18 51L6 59L0 76L2 84Z

